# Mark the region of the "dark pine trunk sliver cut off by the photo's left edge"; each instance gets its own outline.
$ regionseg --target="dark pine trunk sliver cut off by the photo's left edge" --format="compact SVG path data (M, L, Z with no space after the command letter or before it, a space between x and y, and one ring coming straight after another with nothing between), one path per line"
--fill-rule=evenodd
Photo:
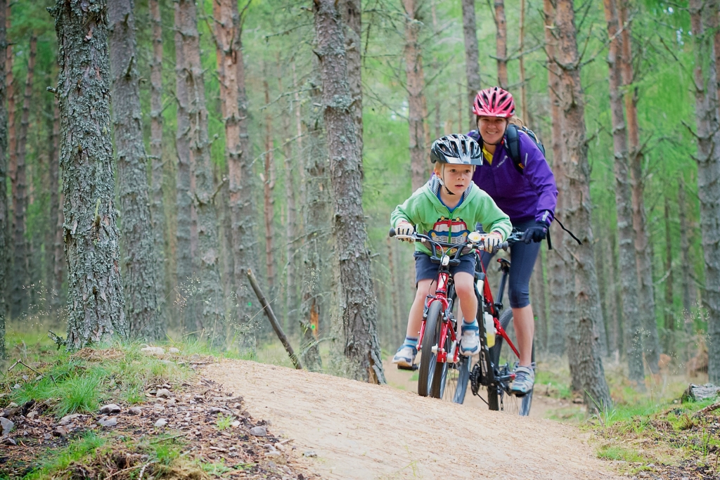
M9 50L7 45L6 24L9 19L9 6L6 0L0 0L0 52ZM7 208L7 110L6 100L6 56L0 55L0 359L6 358L5 321L9 314L7 285L9 276L8 255L10 245L10 219Z

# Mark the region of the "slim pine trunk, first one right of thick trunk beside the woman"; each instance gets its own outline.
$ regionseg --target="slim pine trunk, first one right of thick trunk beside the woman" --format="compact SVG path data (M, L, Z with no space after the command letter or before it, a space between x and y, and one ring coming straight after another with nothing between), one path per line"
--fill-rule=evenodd
M629 379L639 387L644 386L645 371L642 358L642 314L639 309L639 279L636 270L636 253L632 224L632 201L628 172L628 147L625 118L621 96L621 45L618 35L618 14L613 0L603 0L605 19L608 24L610 47L608 68L610 71L610 109L613 122L613 148L615 161L615 207L618 222L618 240L620 249L620 276L623 296L621 297L623 317L627 319Z

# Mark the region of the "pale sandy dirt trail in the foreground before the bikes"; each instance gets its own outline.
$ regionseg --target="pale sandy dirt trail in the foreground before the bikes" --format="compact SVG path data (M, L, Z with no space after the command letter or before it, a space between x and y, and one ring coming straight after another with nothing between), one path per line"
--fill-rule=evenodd
M615 479L577 429L249 361L208 366L326 479ZM444 420L436 420L443 417Z

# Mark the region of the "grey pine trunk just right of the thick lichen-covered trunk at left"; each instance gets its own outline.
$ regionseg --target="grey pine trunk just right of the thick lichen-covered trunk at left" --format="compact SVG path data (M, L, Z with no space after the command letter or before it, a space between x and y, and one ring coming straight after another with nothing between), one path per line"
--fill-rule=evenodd
M122 286L130 337L161 340L165 338L166 325L158 310L161 276L150 219L133 3L133 0L112 0L108 4L112 123L125 257L121 265Z

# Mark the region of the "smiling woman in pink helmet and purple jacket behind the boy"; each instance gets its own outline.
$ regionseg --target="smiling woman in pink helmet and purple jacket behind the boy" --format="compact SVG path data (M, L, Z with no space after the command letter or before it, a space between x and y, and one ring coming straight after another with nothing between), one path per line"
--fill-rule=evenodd
M530 304L530 276L540 251L540 243L548 231L557 204L555 178L536 143L518 129L521 165L508 153L505 132L514 117L513 96L495 86L477 93L472 111L476 115L477 130L468 136L482 146L485 162L475 169L472 180L495 200L517 230L525 232L523 242L510 248L510 279L508 296L513 309L513 323L520 350L520 365L511 391L518 396L533 388L535 371L532 365L535 321ZM482 264L492 255L484 253Z

